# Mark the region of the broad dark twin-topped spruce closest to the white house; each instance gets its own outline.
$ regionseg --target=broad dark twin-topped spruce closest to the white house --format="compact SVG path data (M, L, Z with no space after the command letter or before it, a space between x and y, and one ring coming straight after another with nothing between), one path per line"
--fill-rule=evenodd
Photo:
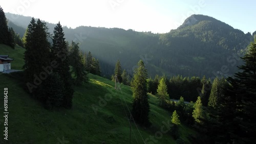
M46 100L46 95L42 95L40 90L47 79L47 76L51 73L51 70L47 74L45 69L50 65L50 43L48 42L48 28L46 23L41 22L38 19L32 18L26 36L25 43L25 81L28 90L32 92L36 97ZM35 79L35 80L34 80Z

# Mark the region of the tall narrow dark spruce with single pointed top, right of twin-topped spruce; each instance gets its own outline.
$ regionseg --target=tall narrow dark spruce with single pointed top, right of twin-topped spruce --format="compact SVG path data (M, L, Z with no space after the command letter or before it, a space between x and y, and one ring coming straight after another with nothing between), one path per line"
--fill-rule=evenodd
M66 108L72 107L73 88L72 78L70 73L70 62L68 59L68 45L65 41L65 34L63 33L60 22L54 28L53 45L51 48L52 60L56 61L57 67L53 69L54 72L58 73L59 79L62 80L63 91L62 91L62 103L61 105ZM54 77L53 75L52 77Z

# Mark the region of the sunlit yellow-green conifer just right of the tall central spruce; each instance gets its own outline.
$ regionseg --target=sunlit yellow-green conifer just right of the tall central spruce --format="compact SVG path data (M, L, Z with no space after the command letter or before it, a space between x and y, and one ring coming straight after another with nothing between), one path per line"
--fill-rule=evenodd
M159 105L163 106L166 102L166 100L169 99L169 94L167 93L167 86L165 84L165 79L162 78L159 82L158 88L157 88L157 96L159 99Z

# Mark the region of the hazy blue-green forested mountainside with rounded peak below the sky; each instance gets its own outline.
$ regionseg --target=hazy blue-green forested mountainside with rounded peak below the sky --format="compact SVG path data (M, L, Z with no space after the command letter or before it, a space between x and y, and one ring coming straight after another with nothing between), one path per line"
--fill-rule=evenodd
M28 25L31 17L6 13L18 26ZM58 22L58 21L56 21ZM52 23L47 23L52 33ZM14 28L15 30L15 28ZM80 26L63 28L66 40L80 43L80 48L92 52L101 64L102 75L110 77L119 59L123 69L132 75L139 59L146 64L148 73L166 76L228 76L237 71L240 56L253 41L244 34L215 18L204 15L188 17L182 26L166 34L136 32L119 28Z

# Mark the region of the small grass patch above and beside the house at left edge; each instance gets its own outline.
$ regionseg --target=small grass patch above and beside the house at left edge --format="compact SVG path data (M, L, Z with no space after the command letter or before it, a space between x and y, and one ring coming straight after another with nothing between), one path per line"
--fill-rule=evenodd
M0 55L9 55L9 58L13 59L11 69L22 69L24 65L24 52L25 49L18 45L15 46L15 49L11 49L10 46L0 44Z

